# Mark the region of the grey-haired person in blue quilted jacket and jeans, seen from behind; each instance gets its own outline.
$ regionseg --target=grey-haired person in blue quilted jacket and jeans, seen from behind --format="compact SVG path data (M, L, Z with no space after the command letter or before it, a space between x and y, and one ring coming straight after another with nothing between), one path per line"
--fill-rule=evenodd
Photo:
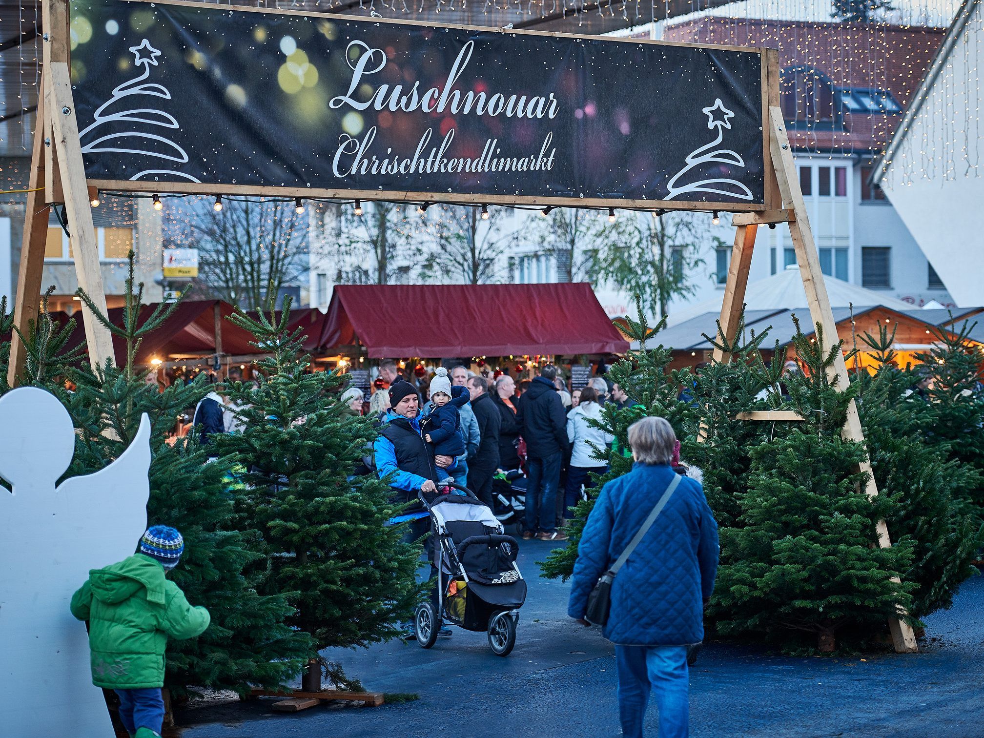
M584 625L587 596L628 546L676 472L676 436L663 418L629 428L632 471L601 488L584 525L568 614ZM642 738L650 692L659 738L688 734L687 646L704 639L704 606L717 573L717 523L704 489L682 477L619 571L603 634L615 644L619 716L626 738Z

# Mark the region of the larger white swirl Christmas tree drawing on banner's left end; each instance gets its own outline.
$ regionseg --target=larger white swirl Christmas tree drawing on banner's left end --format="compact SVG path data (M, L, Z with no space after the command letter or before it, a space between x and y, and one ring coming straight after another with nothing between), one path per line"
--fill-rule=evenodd
M146 82L151 76L151 67L157 66L157 57L160 56L160 52L146 38L139 46L131 46L130 51L135 57L135 66L138 69L143 68L143 71L139 76L124 82L113 90L112 97L99 105L95 110L95 114L92 116L92 124L79 134L79 138L83 142L82 153L144 154L181 164L187 163L187 152L165 136L153 133L153 129L150 131L115 131L86 143L86 138L91 132L93 135L98 135L98 129L100 127L109 124L118 124L120 122L136 123L145 127L157 126L175 130L180 128L173 115L155 108L133 108L115 112L111 110L107 111L119 102L123 103L123 107L127 107L130 104L128 98L131 95L152 95L165 100L171 99L171 93L167 88L155 83ZM192 182L199 181L190 174L174 169L144 169L134 174L130 179L137 180L151 174L173 174L184 179L189 179Z

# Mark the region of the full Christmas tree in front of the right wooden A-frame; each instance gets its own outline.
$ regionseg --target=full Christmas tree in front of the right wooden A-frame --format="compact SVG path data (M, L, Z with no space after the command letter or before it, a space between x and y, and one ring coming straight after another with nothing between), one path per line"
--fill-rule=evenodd
M713 599L719 633L832 650L838 635L882 632L897 606L911 606L916 585L892 578L911 567L912 544L901 536L891 548L872 545L894 510L889 497L860 492L865 450L840 437L857 392L829 375L841 343L826 349L819 326L815 341L797 326L794 346L806 372L785 381L805 420L751 450L741 527L720 530Z

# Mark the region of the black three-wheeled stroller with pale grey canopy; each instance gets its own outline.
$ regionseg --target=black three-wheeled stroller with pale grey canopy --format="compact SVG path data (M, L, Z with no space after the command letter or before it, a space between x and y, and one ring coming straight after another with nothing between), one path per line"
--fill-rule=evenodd
M434 646L447 623L486 631L492 652L509 655L516 646L518 610L526 599L526 583L516 565L520 545L503 534L502 523L471 492L456 484L445 486L464 494L418 495L430 513L438 603L436 610L430 598L417 605L417 643Z

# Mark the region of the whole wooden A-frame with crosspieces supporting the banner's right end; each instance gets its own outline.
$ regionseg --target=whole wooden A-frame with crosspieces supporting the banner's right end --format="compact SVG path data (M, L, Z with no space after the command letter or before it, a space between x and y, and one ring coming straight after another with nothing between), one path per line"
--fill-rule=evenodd
M793 161L789 137L778 106L769 107L769 150L772 169L778 184L779 194L785 210L766 211L763 213L748 213L735 215L732 224L736 225L735 243L731 251L731 266L728 269L727 284L724 288L724 302L721 305L721 333L725 344L731 345L738 330L738 323L745 302L745 289L748 285L749 266L752 263L752 250L755 247L755 234L759 225L776 222L789 223L789 234L796 250L796 261L799 264L800 276L803 277L803 287L806 290L806 301L810 308L810 317L814 324L820 324L824 335L836 339L837 325L830 310L830 298L824 284L824 274L820 268L820 255L810 230L803 193L800 190L799 179L796 176L796 164ZM731 355L720 348L715 348L714 361L730 361ZM850 383L847 375L847 365L841 352L837 352L833 365L829 370L830 379L836 377L841 387ZM775 421L802 420L792 410L756 410L739 413L738 420ZM847 407L847 421L840 431L841 438L864 444L864 431L861 429L861 419L858 417L857 405L854 400ZM698 438L707 441L707 434L702 432ZM875 477L871 473L871 461L867 456L858 464L857 471L867 472L867 482L864 492L873 499L878 495ZM860 490L859 490L860 491ZM889 526L885 521L878 522L878 545L881 548L892 546L889 536ZM892 578L898 582L897 578ZM890 618L889 627L892 631L892 644L899 653L914 653L918 650L912 627L902 618L905 611L898 607L898 617Z

